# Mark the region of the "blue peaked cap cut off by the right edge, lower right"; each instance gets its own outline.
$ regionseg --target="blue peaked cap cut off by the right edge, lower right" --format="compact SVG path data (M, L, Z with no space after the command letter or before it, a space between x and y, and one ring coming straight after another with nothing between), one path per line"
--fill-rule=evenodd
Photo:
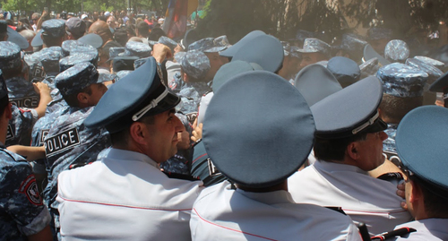
M409 170L410 176L417 176L418 185L445 201L448 201L447 119L446 108L415 108L401 120L395 139L401 168Z

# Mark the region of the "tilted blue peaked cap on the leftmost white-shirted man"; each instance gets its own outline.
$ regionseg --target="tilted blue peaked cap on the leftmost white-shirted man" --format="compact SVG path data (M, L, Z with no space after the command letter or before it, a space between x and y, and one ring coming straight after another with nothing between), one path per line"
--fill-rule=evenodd
M143 116L174 108L180 99L160 82L153 57L140 68L114 83L84 121L88 127L105 126L109 133L124 130Z

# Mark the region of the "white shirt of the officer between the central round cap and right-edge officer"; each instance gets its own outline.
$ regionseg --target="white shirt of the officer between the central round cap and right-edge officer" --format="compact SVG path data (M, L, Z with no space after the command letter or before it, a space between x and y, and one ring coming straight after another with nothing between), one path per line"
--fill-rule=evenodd
M372 236L412 219L396 185L355 166L318 160L290 176L288 186L295 202L341 207L355 223L366 223Z

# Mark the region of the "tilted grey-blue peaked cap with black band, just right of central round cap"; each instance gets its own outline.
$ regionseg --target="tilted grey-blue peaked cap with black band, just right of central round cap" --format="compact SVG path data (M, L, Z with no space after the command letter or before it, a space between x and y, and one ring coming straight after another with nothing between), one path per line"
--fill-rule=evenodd
M369 76L315 103L311 111L316 137L340 139L385 130L377 110L382 98L381 82Z

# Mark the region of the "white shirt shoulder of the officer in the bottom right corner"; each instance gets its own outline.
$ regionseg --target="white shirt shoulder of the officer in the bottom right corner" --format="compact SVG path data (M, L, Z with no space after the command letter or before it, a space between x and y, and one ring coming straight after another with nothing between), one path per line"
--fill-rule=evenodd
M409 223L404 223L396 228L414 228L417 231L409 233L403 237L398 237L397 241L444 241L448 240L448 219L421 219ZM396 229L395 228L395 229ZM389 239L387 239L389 240Z

